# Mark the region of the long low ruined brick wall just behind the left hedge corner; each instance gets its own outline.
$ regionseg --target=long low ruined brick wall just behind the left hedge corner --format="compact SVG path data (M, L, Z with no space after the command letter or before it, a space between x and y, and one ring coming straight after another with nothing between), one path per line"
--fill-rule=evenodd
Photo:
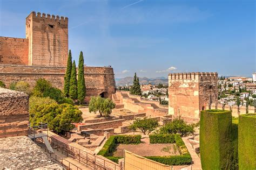
M122 122L124 122L125 119L117 119L114 121L108 121L108 122L100 122L100 123L91 123L86 125L78 125L78 131L87 130L87 129L107 129L107 128L118 128L119 126L122 126Z

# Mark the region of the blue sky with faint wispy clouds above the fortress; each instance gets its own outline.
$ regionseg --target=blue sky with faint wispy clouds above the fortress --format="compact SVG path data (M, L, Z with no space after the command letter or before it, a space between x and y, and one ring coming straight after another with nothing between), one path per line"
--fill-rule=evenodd
M254 0L0 0L0 36L25 38L31 11L68 17L73 59L116 77L256 71Z

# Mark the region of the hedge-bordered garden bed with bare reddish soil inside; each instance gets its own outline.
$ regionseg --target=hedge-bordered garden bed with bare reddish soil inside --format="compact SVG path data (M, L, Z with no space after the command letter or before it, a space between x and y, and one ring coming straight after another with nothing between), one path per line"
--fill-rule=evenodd
M98 154L118 163L118 159L123 158L122 150L127 149L127 151L166 165L191 164L191 155L179 134L152 134L150 144L141 144L140 139L140 135L111 136Z

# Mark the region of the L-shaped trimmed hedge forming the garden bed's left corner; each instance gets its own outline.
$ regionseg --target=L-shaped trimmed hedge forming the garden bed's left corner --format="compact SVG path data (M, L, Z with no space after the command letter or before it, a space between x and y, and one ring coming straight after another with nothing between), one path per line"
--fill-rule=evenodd
M111 157L111 160L114 160L115 158L112 157L112 153L116 149L117 144L139 144L141 143L140 141L141 138L142 138L141 135L110 136L110 138L107 139L102 150L99 151L98 155L103 155L103 157ZM120 159L119 157L117 158Z

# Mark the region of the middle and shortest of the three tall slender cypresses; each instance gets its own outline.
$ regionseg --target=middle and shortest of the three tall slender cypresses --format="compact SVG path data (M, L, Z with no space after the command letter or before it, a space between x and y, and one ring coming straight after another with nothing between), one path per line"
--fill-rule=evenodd
M69 96L73 100L77 100L77 70L76 70L75 60L73 61L72 71L70 76Z

